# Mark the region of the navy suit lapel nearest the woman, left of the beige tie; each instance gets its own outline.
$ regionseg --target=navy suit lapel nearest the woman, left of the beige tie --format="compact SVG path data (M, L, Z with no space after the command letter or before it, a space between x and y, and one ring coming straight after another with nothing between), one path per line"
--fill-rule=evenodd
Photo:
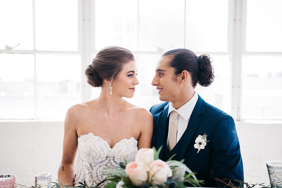
M160 112L157 122L157 140L156 140L156 149L158 150L161 146L164 145L164 139L166 137L166 128L167 128L167 113L168 113L169 103L164 107L164 110ZM163 148L160 152L162 156Z

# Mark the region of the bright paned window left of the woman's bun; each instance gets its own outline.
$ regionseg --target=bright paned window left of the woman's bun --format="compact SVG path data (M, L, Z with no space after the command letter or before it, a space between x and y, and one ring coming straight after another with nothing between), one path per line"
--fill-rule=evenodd
M81 101L78 2L4 0L0 18L0 118L63 119Z

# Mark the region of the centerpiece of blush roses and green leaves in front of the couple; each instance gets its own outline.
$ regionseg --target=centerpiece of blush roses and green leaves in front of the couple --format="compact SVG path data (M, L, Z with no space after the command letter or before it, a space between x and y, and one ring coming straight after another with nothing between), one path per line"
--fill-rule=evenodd
M122 169L108 169L107 178L111 182L106 188L185 188L185 182L194 187L201 187L198 180L183 161L171 160L164 162L158 158L160 149L142 148L137 151L134 162L120 162Z

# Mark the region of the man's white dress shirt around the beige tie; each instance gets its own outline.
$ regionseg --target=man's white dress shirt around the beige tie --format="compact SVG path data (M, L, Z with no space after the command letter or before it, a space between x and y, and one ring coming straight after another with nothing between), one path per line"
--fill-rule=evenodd
M175 110L177 113L179 113L178 124L177 124L177 133L176 133L176 143L180 140L184 131L187 128L190 116L197 103L197 100L198 100L198 94L195 91L193 97L177 110L174 108L172 103L169 102L169 108L168 108L168 114L167 114L167 117L169 116L169 126L170 126L170 120L172 118L172 111ZM168 142L169 142L169 127L168 127L168 136L167 136L167 146L169 145Z

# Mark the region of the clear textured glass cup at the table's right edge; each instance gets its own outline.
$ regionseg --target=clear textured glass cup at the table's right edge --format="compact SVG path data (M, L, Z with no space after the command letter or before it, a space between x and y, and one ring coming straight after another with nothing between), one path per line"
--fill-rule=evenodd
M268 161L266 167L271 187L282 188L282 161Z

